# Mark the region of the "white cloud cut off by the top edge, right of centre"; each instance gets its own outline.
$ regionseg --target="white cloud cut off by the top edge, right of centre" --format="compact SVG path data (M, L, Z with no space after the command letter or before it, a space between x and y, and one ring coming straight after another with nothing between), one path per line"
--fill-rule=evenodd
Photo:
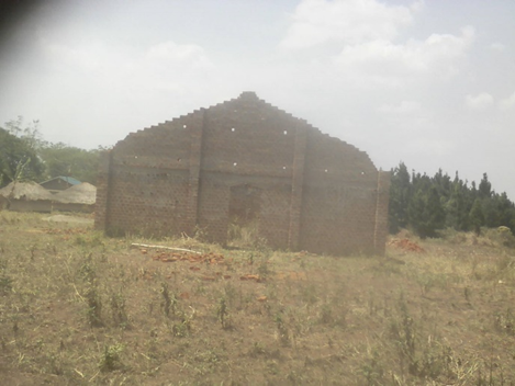
M281 46L307 48L329 41L360 44L380 38L393 39L399 29L413 21L422 7L387 5L376 0L304 0L292 15L293 23Z

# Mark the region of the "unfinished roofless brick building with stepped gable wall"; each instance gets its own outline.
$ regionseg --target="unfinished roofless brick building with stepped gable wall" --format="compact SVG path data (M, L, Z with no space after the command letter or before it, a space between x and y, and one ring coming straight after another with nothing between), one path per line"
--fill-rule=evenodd
M384 252L390 174L254 92L130 134L98 180L96 227L225 243L254 222L273 248Z

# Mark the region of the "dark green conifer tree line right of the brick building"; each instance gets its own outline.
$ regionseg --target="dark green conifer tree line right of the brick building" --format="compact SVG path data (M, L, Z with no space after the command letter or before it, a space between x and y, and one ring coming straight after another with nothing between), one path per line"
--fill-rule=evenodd
M441 169L434 177L411 174L401 162L392 170L390 189L390 232L414 230L422 238L436 237L438 230L473 230L506 226L515 234L515 204L506 193L492 190L486 173L479 185L451 179Z

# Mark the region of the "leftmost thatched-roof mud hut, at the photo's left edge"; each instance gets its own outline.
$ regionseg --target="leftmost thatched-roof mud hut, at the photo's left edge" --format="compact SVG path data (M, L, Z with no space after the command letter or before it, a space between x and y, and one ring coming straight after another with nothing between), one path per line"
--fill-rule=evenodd
M54 196L35 182L11 182L0 189L0 208L15 212L52 212Z

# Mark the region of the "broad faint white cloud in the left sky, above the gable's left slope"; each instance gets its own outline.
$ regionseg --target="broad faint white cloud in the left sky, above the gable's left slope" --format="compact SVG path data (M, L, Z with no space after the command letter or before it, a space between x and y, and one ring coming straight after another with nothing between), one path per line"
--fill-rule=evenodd
M107 43L82 42L69 46L60 42L41 39L51 71L88 79L82 88L99 87L110 94L114 90L150 98L161 91L183 91L192 79L203 79L213 68L204 49L194 44L161 42L135 49Z

